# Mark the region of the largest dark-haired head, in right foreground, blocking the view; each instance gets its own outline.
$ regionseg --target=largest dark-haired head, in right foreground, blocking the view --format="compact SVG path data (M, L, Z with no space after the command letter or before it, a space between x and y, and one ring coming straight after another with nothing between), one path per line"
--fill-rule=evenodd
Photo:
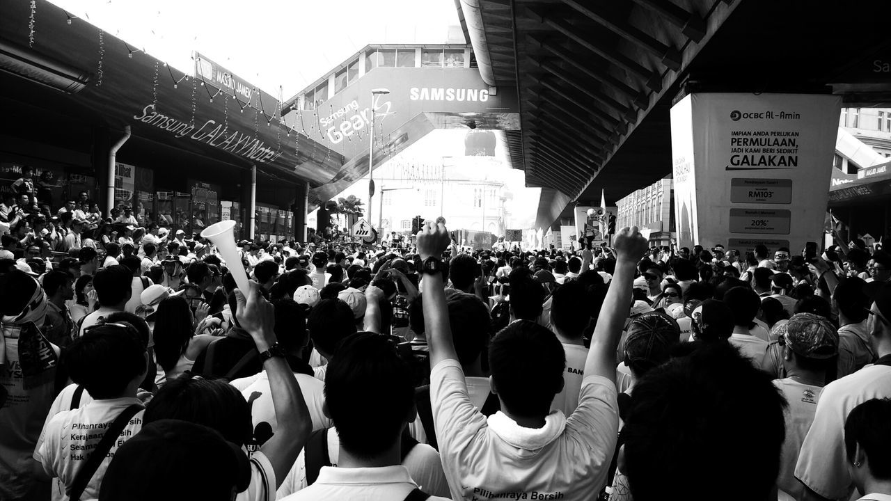
M634 386L622 430L631 496L767 498L780 470L784 407L771 376L729 343L705 343L651 370Z

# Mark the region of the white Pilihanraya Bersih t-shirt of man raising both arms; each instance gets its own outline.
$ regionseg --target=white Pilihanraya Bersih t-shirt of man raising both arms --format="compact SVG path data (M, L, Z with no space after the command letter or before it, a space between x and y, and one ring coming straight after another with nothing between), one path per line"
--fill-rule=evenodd
M616 387L606 378L584 378L576 412L552 412L540 429L520 427L502 412L479 414L456 360L433 367L430 402L455 500L590 499L606 482L618 430Z

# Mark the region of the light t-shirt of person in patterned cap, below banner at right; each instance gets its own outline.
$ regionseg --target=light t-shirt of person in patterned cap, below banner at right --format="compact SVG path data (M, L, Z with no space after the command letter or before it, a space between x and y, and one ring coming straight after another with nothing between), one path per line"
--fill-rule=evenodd
M805 441L807 431L811 429L813 414L817 410L817 400L822 387L797 382L788 377L773 380L773 385L782 391L789 402L784 416L786 419L786 439L782 443L780 456L780 474L777 476L777 487L780 489L779 501L794 501L804 494L804 486L795 478L795 463L801 443Z

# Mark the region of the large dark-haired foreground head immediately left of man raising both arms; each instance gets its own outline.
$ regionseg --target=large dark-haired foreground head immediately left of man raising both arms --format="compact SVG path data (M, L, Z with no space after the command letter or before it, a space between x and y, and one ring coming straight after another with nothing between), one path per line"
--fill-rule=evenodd
M380 334L347 336L328 364L324 392L340 447L362 459L387 452L415 417L409 366Z

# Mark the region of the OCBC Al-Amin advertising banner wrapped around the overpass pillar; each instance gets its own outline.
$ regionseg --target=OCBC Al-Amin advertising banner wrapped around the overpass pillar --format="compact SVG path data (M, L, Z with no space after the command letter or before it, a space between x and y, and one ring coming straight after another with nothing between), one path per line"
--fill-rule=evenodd
M678 245L820 242L840 98L690 94L671 110Z

